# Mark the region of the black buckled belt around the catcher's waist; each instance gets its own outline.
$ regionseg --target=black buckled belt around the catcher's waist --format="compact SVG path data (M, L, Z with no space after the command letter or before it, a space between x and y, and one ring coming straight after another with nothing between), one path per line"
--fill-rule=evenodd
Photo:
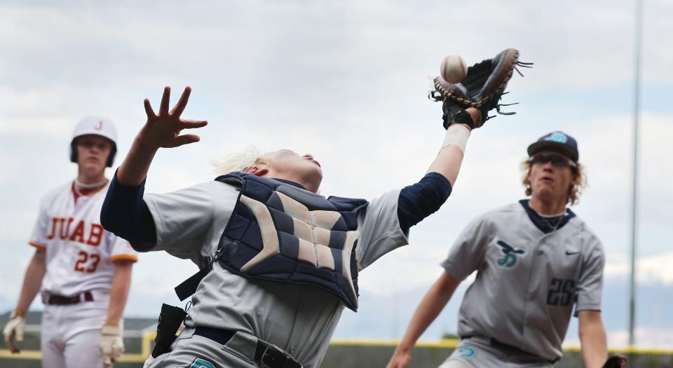
M200 326L196 327L194 334L224 345L236 334L236 331ZM257 339L257 347L254 349L254 361L262 368L301 368L301 364L290 354L285 353L285 350L260 339Z

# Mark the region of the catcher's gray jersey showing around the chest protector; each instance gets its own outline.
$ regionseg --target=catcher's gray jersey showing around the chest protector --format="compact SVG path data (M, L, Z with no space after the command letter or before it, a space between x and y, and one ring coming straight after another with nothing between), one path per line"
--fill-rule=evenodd
M360 269L407 244L397 219L399 195L399 190L385 193L360 212L355 250ZM152 250L200 264L201 257L215 254L237 197L233 186L215 181L168 194L147 194L144 200L157 236ZM318 287L248 280L217 262L191 300L186 326L252 334L283 348L305 368L320 366L344 309L337 297Z

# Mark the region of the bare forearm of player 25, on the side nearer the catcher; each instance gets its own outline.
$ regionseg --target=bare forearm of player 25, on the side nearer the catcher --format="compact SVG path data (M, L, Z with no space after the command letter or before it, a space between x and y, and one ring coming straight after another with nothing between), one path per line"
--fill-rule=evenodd
M400 341L400 345L397 346L396 350L407 352L414 348L421 334L428 329L428 326L442 312L444 306L447 305L459 283L458 280L452 278L448 273L442 273L440 279L430 287L426 296L421 300L421 304L416 308L405 336Z

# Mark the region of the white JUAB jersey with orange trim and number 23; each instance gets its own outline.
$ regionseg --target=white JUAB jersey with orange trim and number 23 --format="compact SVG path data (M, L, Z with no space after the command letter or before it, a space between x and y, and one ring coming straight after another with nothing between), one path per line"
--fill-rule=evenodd
M109 290L114 275L112 261L137 261L137 252L128 241L100 225L106 192L107 185L81 196L69 182L42 198L29 244L46 250L43 292L72 296L95 289Z

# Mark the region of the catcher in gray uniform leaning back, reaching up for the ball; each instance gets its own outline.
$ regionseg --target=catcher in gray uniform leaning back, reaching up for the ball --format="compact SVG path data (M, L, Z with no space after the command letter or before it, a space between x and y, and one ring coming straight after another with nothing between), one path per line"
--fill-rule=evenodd
M144 194L158 148L197 142L180 131L207 124L180 118L189 93L169 111L165 88L158 114L145 100L147 123L101 214L136 250L202 269L186 328L145 367L319 367L344 306L358 308L358 272L406 245L409 228L449 196L470 128L451 124L421 181L374 200L318 195L320 163L289 150L234 156L214 181Z

